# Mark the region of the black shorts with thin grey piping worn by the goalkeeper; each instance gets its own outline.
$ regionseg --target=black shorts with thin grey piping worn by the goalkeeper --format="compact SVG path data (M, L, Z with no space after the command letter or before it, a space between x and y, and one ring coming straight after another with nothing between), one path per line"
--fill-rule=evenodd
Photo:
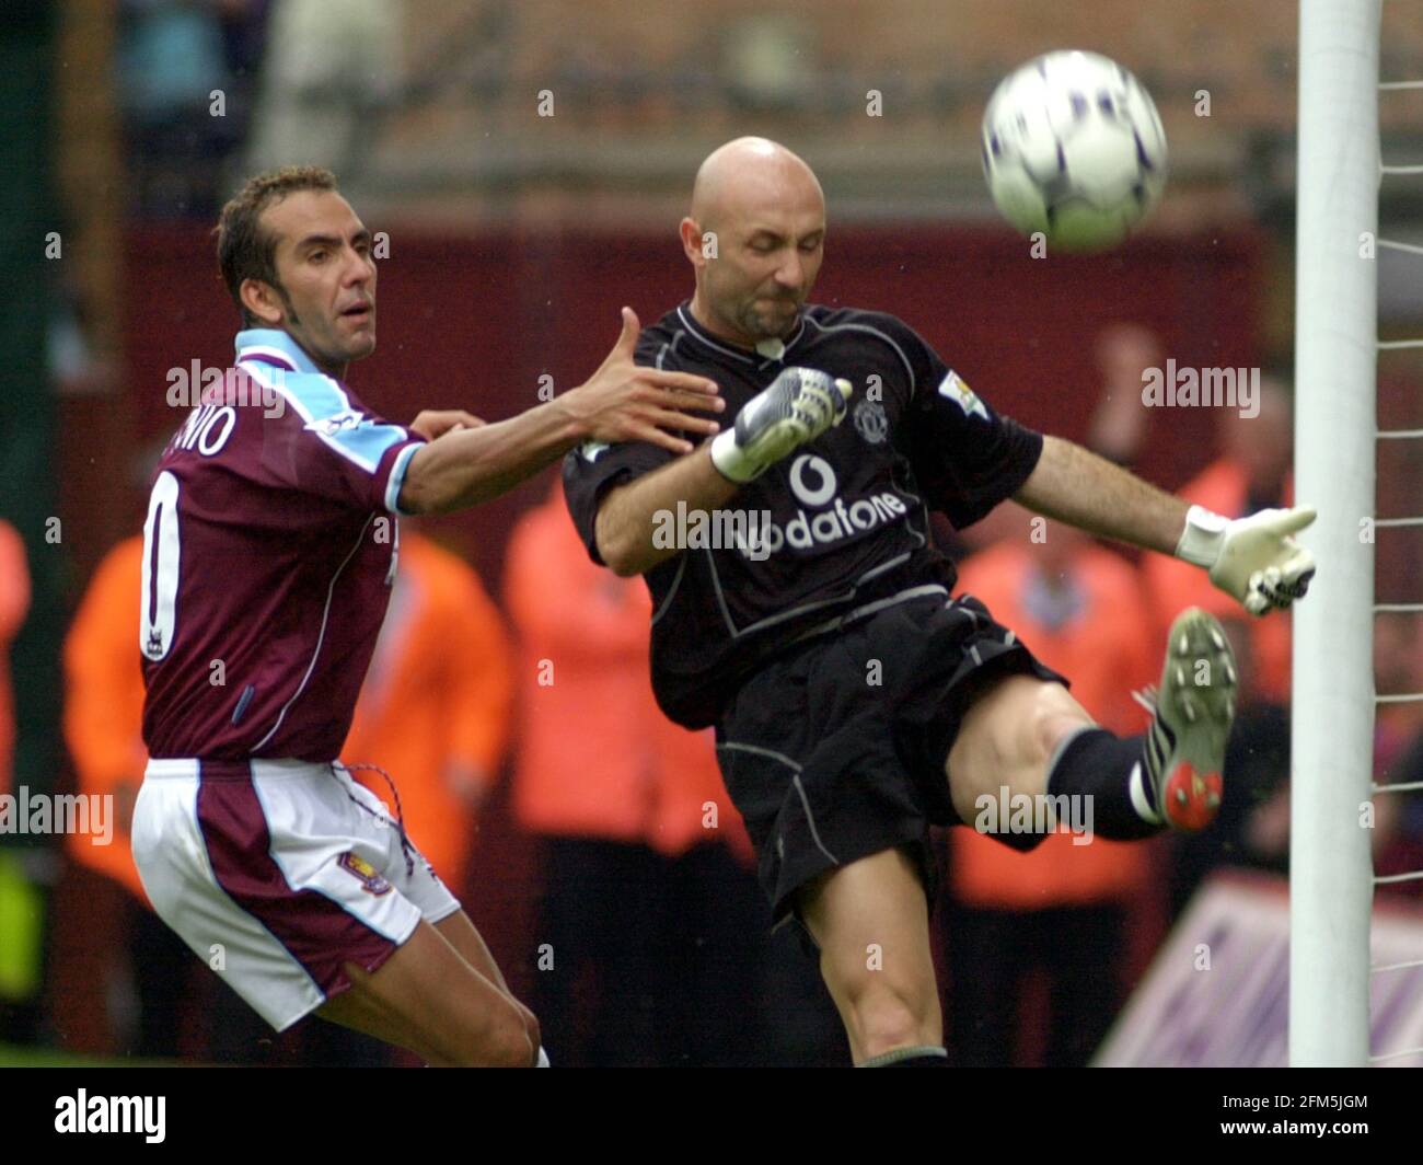
M912 598L768 659L717 722L721 776L776 926L817 874L959 825L945 762L975 694L1009 674L1066 685L972 595Z

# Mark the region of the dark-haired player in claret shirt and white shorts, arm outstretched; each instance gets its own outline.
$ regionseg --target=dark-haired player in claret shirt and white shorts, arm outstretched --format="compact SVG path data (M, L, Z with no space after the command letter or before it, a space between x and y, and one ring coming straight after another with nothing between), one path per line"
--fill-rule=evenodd
M376 348L376 265L329 172L250 179L222 211L218 256L242 313L236 359L164 451L144 526L144 889L279 1031L314 1011L430 1064L534 1065L534 1015L336 759L397 516L485 501L579 442L687 451L680 434L717 432L700 416L720 410L716 385L635 367L625 308L579 387L495 424L450 410L403 427L344 383Z

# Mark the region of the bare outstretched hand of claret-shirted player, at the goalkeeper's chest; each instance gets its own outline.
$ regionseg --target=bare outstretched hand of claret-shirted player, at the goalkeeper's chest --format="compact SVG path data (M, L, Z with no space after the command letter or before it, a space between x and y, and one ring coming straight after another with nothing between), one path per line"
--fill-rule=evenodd
M692 442L676 433L717 433L721 426L699 413L719 413L726 407L714 380L686 372L659 372L638 367L638 315L622 309L623 330L602 367L576 389L565 393L595 442L650 442L673 453L690 453Z

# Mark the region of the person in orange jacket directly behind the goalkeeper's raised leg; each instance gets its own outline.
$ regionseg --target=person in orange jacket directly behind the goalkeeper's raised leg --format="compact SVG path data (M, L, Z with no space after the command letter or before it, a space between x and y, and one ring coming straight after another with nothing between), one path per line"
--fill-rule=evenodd
M1016 513L1016 537L959 567L962 592L1070 675L1073 695L1103 728L1140 732L1147 712L1131 692L1155 679L1160 651L1137 570L1072 527ZM1090 819L1063 823L1030 853L966 829L949 837L949 1013L963 1065L1015 1062L1032 971L1049 981L1049 1067L1086 1064L1121 1003L1126 907L1146 886L1148 855L1072 836L1070 825L1090 829Z

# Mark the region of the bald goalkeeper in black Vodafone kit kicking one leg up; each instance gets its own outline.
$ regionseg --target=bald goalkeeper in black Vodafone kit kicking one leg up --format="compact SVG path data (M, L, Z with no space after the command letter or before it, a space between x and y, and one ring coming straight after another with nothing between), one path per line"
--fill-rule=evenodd
M716 379L734 427L690 454L585 444L564 476L595 560L646 575L657 698L716 725L774 919L818 946L855 1062L936 1067L929 825L978 823L980 798L1066 822L1063 798L1091 798L1104 837L1201 829L1235 671L1191 608L1150 731L1101 729L982 602L952 597L928 511L962 528L1012 497L1205 567L1257 615L1305 592L1313 561L1289 534L1313 511L1227 521L1000 416L894 316L807 303L824 239L805 162L761 138L714 151L682 221L696 291L638 360ZM1046 836L1020 826L985 832Z

